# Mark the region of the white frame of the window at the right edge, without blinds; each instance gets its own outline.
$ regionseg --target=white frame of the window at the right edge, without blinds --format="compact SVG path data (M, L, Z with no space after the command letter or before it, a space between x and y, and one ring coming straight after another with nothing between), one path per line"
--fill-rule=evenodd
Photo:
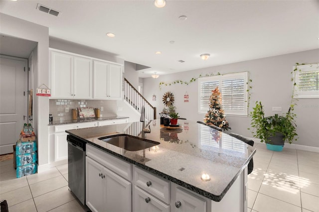
M293 67L294 69L294 82L296 83L296 87L294 87L294 99L313 99L319 98L319 89L317 91L299 91L299 74L305 72L318 72L319 64L306 64L306 65L297 65ZM297 69L297 70L296 70ZM319 79L318 79L319 80Z

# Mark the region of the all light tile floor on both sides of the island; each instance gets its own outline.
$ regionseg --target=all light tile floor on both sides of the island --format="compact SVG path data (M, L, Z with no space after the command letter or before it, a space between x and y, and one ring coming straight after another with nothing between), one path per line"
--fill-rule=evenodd
M287 144L288 145L288 144ZM319 153L255 144L248 175L248 212L319 212ZM15 178L12 160L0 162L0 200L9 212L86 212L68 191L67 164Z

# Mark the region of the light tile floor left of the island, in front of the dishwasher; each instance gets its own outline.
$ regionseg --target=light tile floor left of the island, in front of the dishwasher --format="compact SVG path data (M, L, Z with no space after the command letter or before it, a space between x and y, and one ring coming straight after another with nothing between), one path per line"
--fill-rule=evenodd
M0 200L9 212L87 212L68 190L68 165L16 178L13 160L0 162Z

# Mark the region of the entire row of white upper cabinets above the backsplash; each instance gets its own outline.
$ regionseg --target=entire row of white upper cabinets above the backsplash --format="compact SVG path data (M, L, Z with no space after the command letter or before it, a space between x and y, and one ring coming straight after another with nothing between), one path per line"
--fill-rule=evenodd
M51 98L122 99L123 66L60 50L50 50Z

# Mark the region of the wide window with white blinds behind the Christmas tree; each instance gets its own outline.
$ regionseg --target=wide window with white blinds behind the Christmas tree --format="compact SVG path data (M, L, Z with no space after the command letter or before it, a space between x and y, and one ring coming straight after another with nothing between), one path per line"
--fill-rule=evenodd
M208 111L211 91L218 86L225 114L247 116L247 80L248 72L199 78L198 112Z

